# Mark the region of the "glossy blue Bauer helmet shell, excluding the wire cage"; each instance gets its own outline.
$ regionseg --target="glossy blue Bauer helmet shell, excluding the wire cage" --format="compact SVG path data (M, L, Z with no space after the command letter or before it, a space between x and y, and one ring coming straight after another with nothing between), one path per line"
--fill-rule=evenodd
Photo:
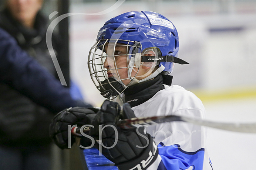
M178 32L170 20L161 14L151 11L131 11L118 15L105 22L100 29L97 40L123 39L140 42L141 51L157 47L162 56L171 55L178 58ZM163 71L171 73L173 62L160 62Z

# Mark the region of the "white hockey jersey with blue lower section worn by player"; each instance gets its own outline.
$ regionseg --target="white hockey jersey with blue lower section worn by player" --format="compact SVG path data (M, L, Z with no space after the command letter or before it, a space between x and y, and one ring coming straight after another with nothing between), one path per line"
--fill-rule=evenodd
M164 90L158 91L148 101L132 107L136 117L205 117L202 101L195 94L178 85L164 86ZM148 126L146 130L159 150L158 158L148 170L212 170L203 126L168 122Z

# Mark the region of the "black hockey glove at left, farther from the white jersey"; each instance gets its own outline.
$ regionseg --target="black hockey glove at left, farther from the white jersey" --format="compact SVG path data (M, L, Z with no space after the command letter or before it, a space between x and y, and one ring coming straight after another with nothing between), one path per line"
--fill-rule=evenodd
M96 108L74 107L59 112L55 115L50 125L50 136L54 143L61 149L68 149L68 133L70 133L68 125L82 126L91 124L97 111L98 109ZM71 135L71 146L74 142L75 136ZM91 144L91 140L88 138L81 138L81 142L83 142L83 146L90 146Z

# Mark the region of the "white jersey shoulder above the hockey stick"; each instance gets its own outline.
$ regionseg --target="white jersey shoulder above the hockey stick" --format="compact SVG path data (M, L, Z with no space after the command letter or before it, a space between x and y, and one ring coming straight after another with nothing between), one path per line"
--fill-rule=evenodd
M165 86L145 103L133 107L137 117L164 115L202 115L202 101L181 86Z

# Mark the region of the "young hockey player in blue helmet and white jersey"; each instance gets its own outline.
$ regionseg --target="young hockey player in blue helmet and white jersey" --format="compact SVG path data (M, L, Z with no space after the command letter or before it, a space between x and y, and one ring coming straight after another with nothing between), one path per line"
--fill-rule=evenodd
M68 125L90 124L89 135L97 142L82 137L81 146L96 147L120 170L212 170L202 126L116 125L120 118L135 116L205 116L198 97L171 86L174 63L188 64L178 58L178 51L178 32L161 14L132 11L107 21L91 48L88 66L102 96L119 104L106 100L100 110L75 107L60 112L51 124L55 143L68 148Z

